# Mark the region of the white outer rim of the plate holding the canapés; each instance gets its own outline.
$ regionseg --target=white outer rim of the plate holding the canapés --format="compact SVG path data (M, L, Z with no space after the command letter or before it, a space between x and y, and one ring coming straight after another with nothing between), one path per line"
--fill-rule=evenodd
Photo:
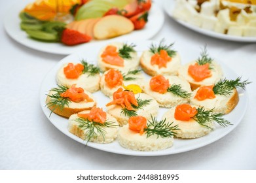
M155 43L157 41L143 41L143 43L141 44L147 44L147 45L150 45L151 43ZM136 43L137 44L137 43ZM83 52L84 53L84 52ZM47 78L49 77L49 75L54 75L54 78L52 78L54 80L54 82L56 83L56 80L55 80L55 76L56 76L56 71L58 71L58 69L60 68L61 65L63 65L64 63L67 63L67 59L69 58L73 58L74 56L79 56L80 54L82 54L82 51L80 50L79 52L76 52L74 54L71 54L69 56L66 56L65 58L61 59L56 65L54 65L54 67L52 67L50 69L50 71L48 71L48 73L45 75L45 77L43 78L43 81L41 82L41 87L40 87L40 94L39 94L39 99L40 99L40 105L41 105L41 109L43 110L47 120L50 121L50 123L52 125L54 125L59 131L61 131L62 133L64 133L67 137L70 137L71 139L77 141L77 142L80 142L81 144L85 144L85 141L83 141L82 139L80 139L79 137L73 135L72 133L69 133L69 131L67 131L67 127L65 129L65 131L63 131L62 129L60 129L58 127L58 125L56 125L56 122L53 122L48 114L49 114L49 109L45 107L45 99L46 99L46 90L44 88L44 84L46 84L46 80ZM74 61L75 62L75 61ZM78 62L78 61L77 61ZM223 63L223 61L219 61L219 59L217 59L217 62L221 65L221 67L224 66L225 69L228 69L232 75L236 75L238 76L230 67L228 67L227 65L225 65L225 63ZM184 64L184 63L182 63ZM54 73L53 73L54 72ZM50 87L48 88L48 90L50 90ZM233 131L239 124L240 122L242 121L242 119L244 118L244 115L246 114L246 111L247 111L247 105L248 105L248 94L247 94L247 91L246 90L242 90L242 93L240 93L238 91L238 93L240 95L242 95L242 99L241 99L241 96L240 96L240 105L241 103L245 103L245 106L243 106L243 110L242 110L242 114L240 113L240 117L236 120L236 123L233 124L232 126L229 126L229 129L225 130L223 133L221 133L221 135L219 135L217 138L213 138L211 139L210 141L206 141L206 142L201 142L197 145L194 145L192 146L192 148L181 148L181 150L175 150L174 152L172 152L172 148L174 147L170 147L166 150L159 150L159 151L155 151L155 152L139 152L139 151L134 151L134 150L126 150L125 148L123 152L119 152L118 150L115 150L114 148L113 149L109 149L109 150L106 150L104 148L104 146L107 146L107 144L98 144L98 143L94 143L94 142L88 142L88 146L92 147L92 148L95 148L95 149L98 149L98 150L102 150L102 151L105 151L105 152L111 152L111 153L114 153L114 154L122 154L122 155L128 155L128 156L166 156L166 155L171 155L171 154L179 154L179 153L182 153L182 152L189 152L191 150L195 150L197 148L201 148L203 146L206 146L208 144L211 144L215 141L219 141L219 139L225 137L227 134L229 134L231 131ZM242 102L241 102L242 101ZM238 103L239 104L239 103ZM232 113L231 113L232 114ZM58 118L63 118L61 116L58 116L57 114L54 114L52 113L52 115L55 115L57 116ZM227 114L227 115L230 115L230 114ZM67 118L65 118L65 120L67 120ZM214 131L213 131L214 132ZM213 133L211 132L211 133ZM204 137L200 137L198 139L202 139ZM194 140L194 139L192 139ZM196 140L196 139L195 139ZM184 141L182 139L174 139L174 142L175 141ZM117 144L117 139L115 140L115 142L112 142L110 143L110 146L111 144L115 146L115 144ZM174 144L175 145L175 144ZM120 146L120 145L119 145ZM122 148L122 147L121 147ZM170 152L171 151L171 152Z

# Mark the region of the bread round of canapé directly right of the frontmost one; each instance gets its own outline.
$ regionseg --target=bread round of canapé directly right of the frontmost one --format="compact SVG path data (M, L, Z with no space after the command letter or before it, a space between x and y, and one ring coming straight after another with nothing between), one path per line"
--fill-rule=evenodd
M170 108L164 113L162 119L166 118L166 123L173 122L173 125L178 125L179 129L175 130L175 133L177 133L175 137L181 139L195 139L207 135L208 133L211 132L211 129L215 128L215 124L213 121L208 124L208 126L211 127L210 129L208 127L198 124L198 122L196 122L193 119L189 120L188 122L176 120L174 118L174 112L175 107Z

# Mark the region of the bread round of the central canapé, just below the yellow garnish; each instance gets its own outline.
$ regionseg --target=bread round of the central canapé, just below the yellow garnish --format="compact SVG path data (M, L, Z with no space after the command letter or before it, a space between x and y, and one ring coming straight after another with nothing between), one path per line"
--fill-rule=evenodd
M153 116L153 117L157 116L159 105L156 102L156 100L153 99L153 97L151 97L145 93L137 93L135 95L135 97L136 97L136 99L139 98L142 100L145 100L145 99L151 100L148 105L136 110L138 116L143 116L143 117L147 118L147 120L151 120L151 116ZM122 107L120 105L108 106L107 112L109 112L109 114L111 114L114 118L117 119L120 126L128 123L129 116L126 116L124 113L122 113Z

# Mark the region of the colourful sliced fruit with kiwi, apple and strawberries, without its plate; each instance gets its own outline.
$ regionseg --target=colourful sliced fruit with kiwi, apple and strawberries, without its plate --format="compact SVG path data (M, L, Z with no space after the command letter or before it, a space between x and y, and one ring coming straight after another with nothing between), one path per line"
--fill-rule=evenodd
M33 39L73 46L143 29L151 0L36 0L20 12Z

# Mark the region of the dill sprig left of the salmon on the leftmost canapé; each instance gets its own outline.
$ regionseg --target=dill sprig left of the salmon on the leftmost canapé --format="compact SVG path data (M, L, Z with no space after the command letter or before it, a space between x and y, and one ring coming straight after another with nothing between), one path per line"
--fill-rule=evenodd
M58 107L60 110L63 110L65 106L69 106L69 103L71 103L70 99L68 97L61 97L60 94L67 91L66 86L58 85L58 88L52 88L50 91L54 92L51 95L48 95L50 97L50 101L46 103L46 107L54 107L51 109L50 115L54 110Z

